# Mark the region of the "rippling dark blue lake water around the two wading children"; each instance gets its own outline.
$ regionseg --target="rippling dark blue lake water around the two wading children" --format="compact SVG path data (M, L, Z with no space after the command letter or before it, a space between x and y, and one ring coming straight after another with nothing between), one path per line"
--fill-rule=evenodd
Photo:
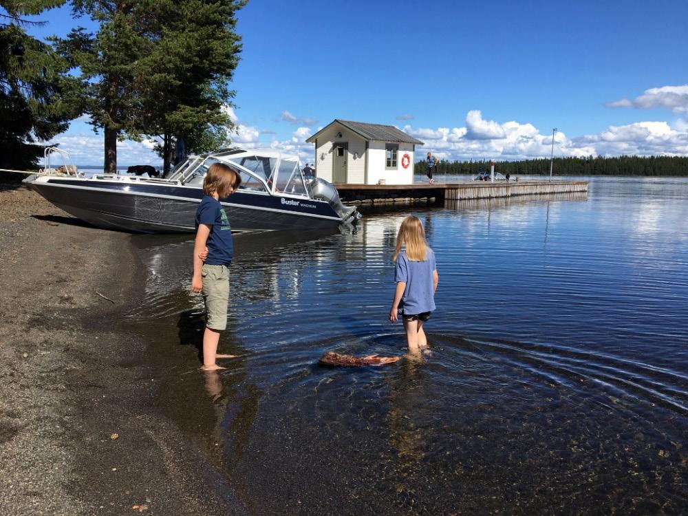
M438 261L431 356L387 321L398 226ZM235 238L240 354L193 372L202 300L188 238L132 237L128 319L170 365L155 404L247 514L688 512L688 180L592 178L588 195L368 211L358 231Z

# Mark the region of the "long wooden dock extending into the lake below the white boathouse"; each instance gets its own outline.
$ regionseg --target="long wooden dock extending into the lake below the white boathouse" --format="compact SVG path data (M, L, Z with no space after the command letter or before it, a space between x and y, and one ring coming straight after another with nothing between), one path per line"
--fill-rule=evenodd
M335 184L342 202L408 202L412 200L472 200L588 192L587 181L471 181L447 184Z

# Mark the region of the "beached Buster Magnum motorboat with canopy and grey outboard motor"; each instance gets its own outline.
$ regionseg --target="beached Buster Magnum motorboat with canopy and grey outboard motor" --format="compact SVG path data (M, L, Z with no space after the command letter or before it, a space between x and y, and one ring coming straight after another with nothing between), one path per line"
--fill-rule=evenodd
M53 168L51 158L58 156L65 164ZM336 228L360 216L354 206L342 204L329 182L304 180L297 156L275 149L231 148L190 156L164 178L87 175L68 161L65 151L50 147L44 168L24 183L58 208L100 228L193 233L203 179L216 162L241 175L239 189L220 200L235 232Z

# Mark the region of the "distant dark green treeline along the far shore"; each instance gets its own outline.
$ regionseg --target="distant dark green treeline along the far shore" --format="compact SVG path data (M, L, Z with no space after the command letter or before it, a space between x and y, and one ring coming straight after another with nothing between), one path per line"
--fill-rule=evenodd
M523 161L497 161L495 172L517 175L549 175L550 160L541 158ZM416 163L416 174L427 174L427 162ZM490 161L440 160L438 174L468 174L490 171ZM618 158L555 158L554 175L688 175L688 157L678 156L619 156Z

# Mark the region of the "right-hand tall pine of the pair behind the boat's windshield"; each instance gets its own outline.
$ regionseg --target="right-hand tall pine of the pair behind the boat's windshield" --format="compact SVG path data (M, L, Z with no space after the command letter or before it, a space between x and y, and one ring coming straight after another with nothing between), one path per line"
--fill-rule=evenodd
M159 0L159 39L142 61L145 132L160 136L158 151L165 173L176 140L186 150L207 152L222 146L233 123L226 107L235 92L228 88L239 63L241 38L236 13L246 0Z

